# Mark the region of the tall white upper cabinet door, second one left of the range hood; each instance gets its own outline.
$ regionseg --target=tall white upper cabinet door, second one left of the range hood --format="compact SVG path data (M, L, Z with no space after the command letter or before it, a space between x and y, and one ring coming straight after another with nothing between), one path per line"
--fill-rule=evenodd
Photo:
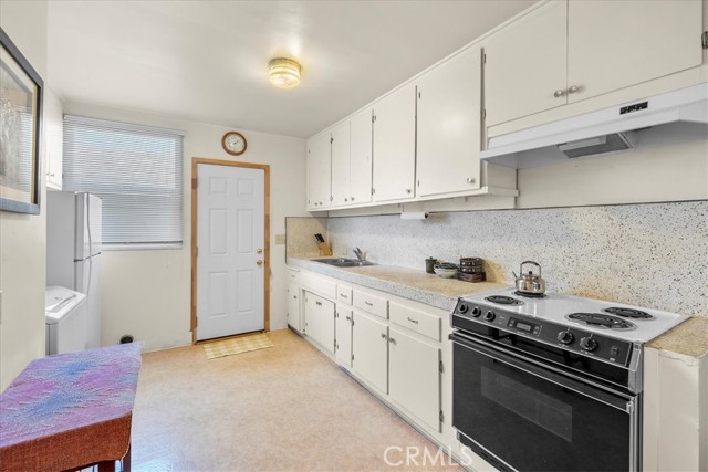
M416 88L408 84L374 104L374 195L376 202L414 197Z

